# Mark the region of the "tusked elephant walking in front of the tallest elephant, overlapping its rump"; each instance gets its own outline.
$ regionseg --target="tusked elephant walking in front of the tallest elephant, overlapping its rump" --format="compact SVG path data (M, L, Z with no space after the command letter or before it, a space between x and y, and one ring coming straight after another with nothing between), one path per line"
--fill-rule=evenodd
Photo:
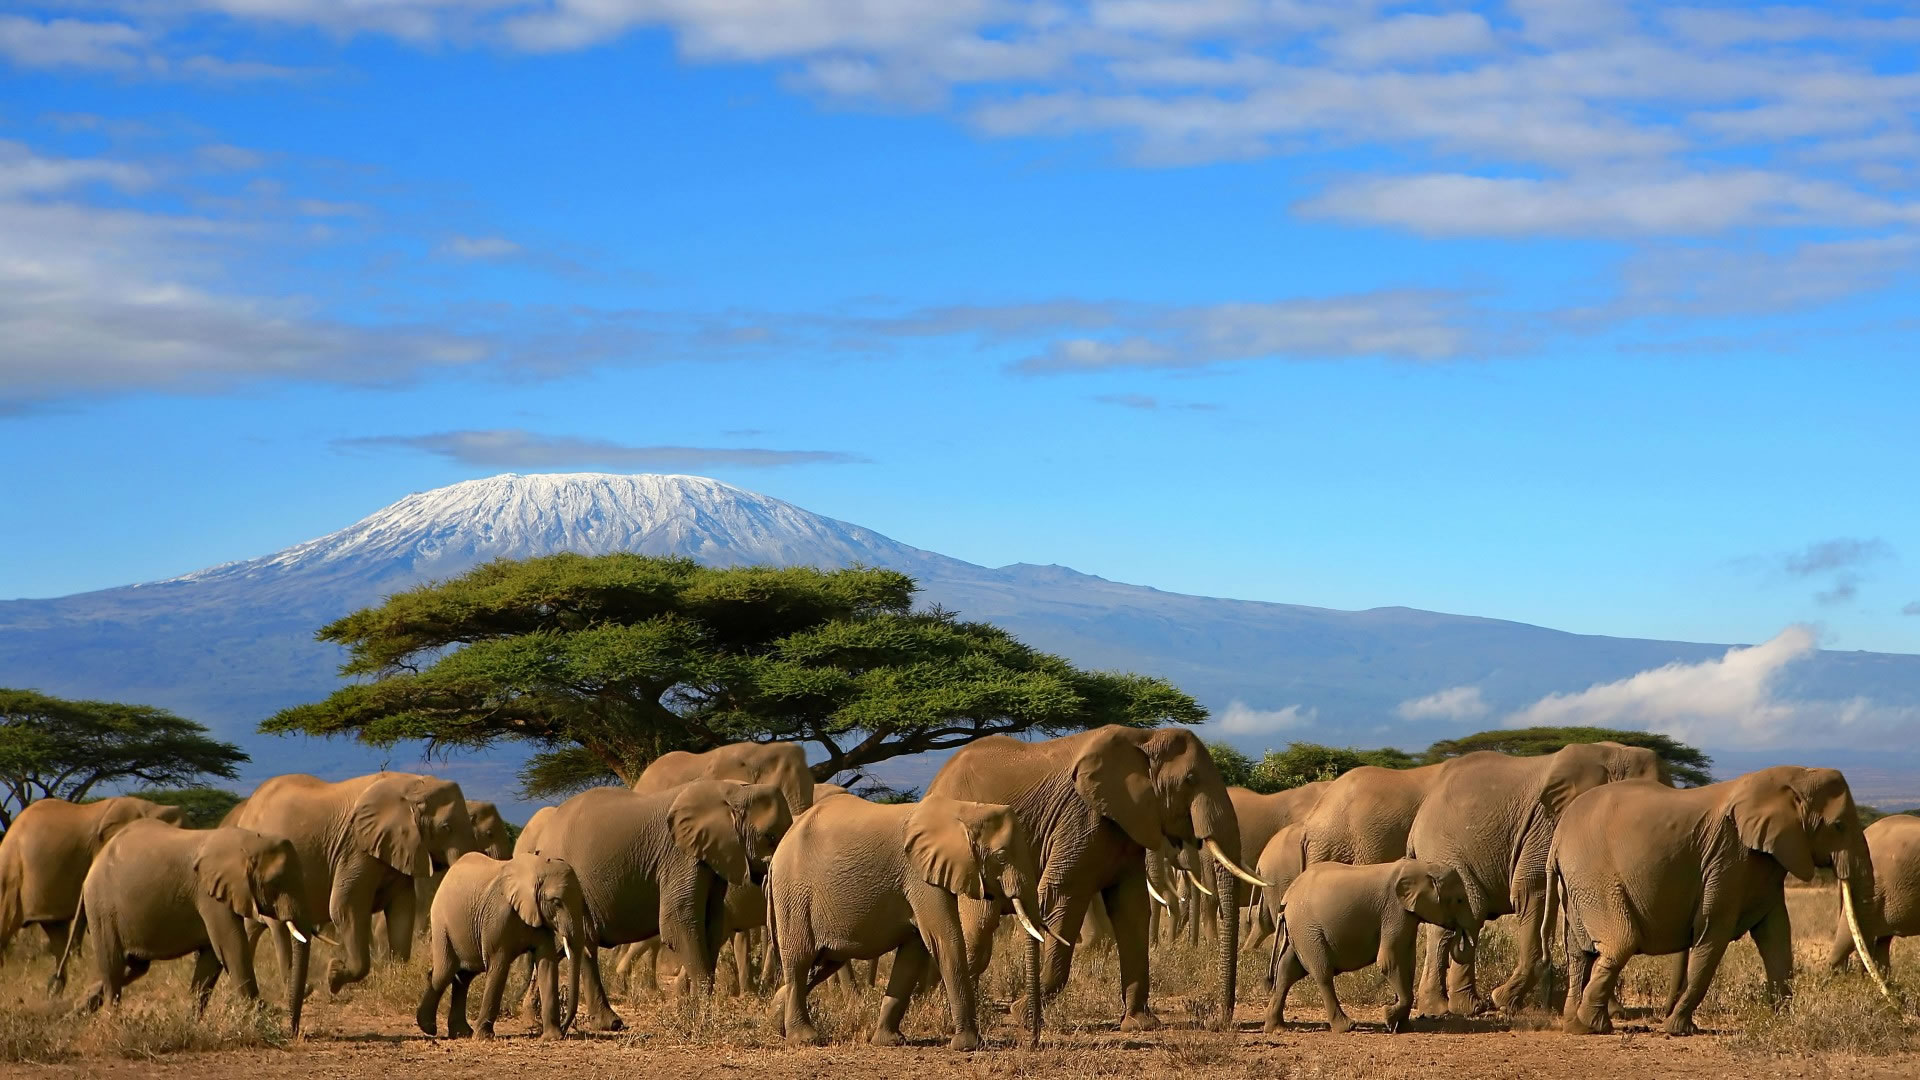
M1039 1040L1043 934L1033 840L1004 805L933 796L910 805L835 798L801 817L768 872L768 940L785 986L774 997L776 1030L818 1042L808 992L852 959L893 953L893 974L872 1042L899 1045L900 1017L931 961L947 986L952 1049L979 1049L975 986L968 970L960 897L1004 899L1031 936L1029 1020Z

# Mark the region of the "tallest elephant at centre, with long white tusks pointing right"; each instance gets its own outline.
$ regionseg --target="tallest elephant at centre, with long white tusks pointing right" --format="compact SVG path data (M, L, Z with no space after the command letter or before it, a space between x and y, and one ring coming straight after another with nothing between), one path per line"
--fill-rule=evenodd
M1041 919L1052 930L1044 945L1043 992L1068 982L1081 919L1092 897L1106 903L1119 955L1121 1030L1160 1024L1146 1007L1146 851L1169 855L1175 844L1204 847L1217 861L1223 913L1215 1024L1233 1030L1235 974L1240 951L1236 876L1258 882L1235 863L1240 826L1227 784L1206 746L1185 728L1104 726L1046 742L987 736L954 753L927 784L927 796L1006 803L1033 836L1041 855ZM968 965L977 976L993 955L993 932L1004 901L962 899Z

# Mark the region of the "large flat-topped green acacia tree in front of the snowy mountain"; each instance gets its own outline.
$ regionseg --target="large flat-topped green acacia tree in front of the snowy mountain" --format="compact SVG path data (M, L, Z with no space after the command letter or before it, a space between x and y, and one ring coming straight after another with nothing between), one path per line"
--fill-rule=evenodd
M866 567L501 559L321 628L361 682L261 730L430 751L528 742L522 788L547 798L741 740L814 744L826 780L987 734L1206 719L1160 678L1079 671L998 626L914 611L914 590Z

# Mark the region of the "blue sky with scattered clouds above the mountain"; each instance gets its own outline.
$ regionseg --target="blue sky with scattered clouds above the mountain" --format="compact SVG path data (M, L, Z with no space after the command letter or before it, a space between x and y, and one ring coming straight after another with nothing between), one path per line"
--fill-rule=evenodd
M13 4L0 596L682 471L989 565L1920 651L1916 50L1849 2Z

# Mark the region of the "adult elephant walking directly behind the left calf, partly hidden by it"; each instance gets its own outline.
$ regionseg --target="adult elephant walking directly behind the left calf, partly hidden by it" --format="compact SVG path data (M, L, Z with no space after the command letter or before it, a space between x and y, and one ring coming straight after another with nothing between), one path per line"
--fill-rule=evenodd
M564 859L574 869L595 945L659 936L710 990L726 934L726 894L766 874L791 824L785 796L768 784L691 780L649 794L589 788L536 815L515 851ZM588 1024L620 1030L595 949L584 965Z

